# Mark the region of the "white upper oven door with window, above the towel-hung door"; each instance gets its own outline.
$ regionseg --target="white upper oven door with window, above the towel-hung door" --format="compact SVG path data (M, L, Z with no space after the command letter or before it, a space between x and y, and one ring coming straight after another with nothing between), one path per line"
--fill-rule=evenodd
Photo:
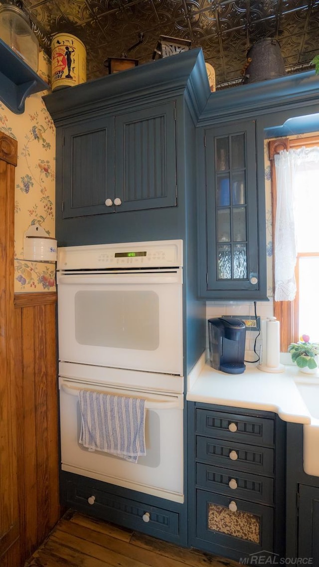
M182 270L58 273L60 361L183 374Z

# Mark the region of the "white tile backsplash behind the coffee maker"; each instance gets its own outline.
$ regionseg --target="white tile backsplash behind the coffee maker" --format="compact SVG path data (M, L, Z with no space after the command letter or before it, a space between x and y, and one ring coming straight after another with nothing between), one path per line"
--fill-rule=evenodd
M269 301L260 301L256 304L256 313L257 317L261 318L261 327L262 321L267 319L268 317L272 317L274 315L274 306L272 302L272 298ZM244 301L228 301L228 302L221 302L221 301L207 301L206 303L206 318L212 319L214 317L221 317L222 315L232 315L238 317L245 316L253 317L255 316L255 307L254 302L244 302ZM258 333L255 331L246 331L246 348L245 348L245 359L247 361L255 361L256 355L254 353L254 344ZM260 346L262 345L262 332L257 338L256 341L256 353L259 356ZM206 328L206 347L209 348L208 345L208 325Z

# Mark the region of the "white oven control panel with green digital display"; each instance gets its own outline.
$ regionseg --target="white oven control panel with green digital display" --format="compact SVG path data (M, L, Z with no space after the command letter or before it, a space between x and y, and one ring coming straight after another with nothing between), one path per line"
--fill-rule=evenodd
M181 267L182 245L182 240L154 240L61 247L57 269Z

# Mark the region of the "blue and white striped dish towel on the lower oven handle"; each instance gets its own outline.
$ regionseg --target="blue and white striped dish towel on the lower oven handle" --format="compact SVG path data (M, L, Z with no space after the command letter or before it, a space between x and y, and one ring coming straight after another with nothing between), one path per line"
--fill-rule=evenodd
M145 450L145 400L79 391L79 443L137 463Z

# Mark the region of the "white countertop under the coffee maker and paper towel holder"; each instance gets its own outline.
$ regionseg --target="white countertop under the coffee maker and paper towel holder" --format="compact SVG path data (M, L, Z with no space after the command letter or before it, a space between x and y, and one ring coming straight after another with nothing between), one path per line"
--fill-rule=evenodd
M295 365L283 373L268 373L247 363L242 374L226 374L205 363L204 354L188 375L186 399L236 408L259 409L278 413L284 421L309 424L310 413L295 380L309 382Z

